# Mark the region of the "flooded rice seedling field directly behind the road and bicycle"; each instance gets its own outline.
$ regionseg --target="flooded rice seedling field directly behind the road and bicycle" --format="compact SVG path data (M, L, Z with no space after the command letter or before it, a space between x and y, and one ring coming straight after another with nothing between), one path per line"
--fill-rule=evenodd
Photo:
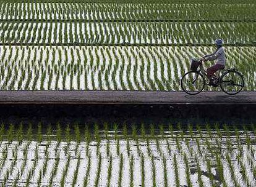
M3 49L7 51L6 47L3 47ZM25 47L11 47L11 49L8 49L9 55L6 55L7 52L1 54L4 62L0 66L1 89L180 90L180 77L186 71L189 71L189 63L184 64L184 60L193 57L192 54L187 53L187 50L198 51L210 48L63 47L62 49L62 47L57 47L58 52L56 52L56 47L52 49L46 47L46 50L43 47L28 47L27 52L30 53L33 50L33 55L25 57L27 59L24 59L22 63L21 58L24 58L24 55L22 55L25 52L24 49ZM15 50L15 54L12 50ZM227 68L235 65L241 70L242 74L247 72L245 83L251 82L249 88L253 88L254 81L251 80L255 80L255 67L251 67L253 59L250 54L247 54L247 50L252 54L254 47L243 47L241 52L235 55L233 54L237 50L236 47L229 47L228 50L230 51L227 52ZM39 57L38 52L40 52ZM43 55L45 52L46 58ZM49 52L53 52L51 58L49 58L51 56ZM87 57L87 53L89 57ZM204 52L204 54L206 53ZM68 58L69 55L70 58ZM119 59L119 55L121 59ZM242 56L243 63L236 60L239 55ZM195 53L195 56L199 56L198 52ZM134 63L132 63L132 59L135 60ZM111 62L112 60L114 63ZM105 63L100 63L101 61ZM171 72L166 73L164 69L169 66L173 66L174 69L173 71L170 69ZM247 69L245 70L245 67L250 67L249 72ZM160 70L161 73L156 70ZM133 81L130 78L132 76L130 71L133 71ZM23 76L20 77L19 73L22 73ZM117 74L122 74L122 76L117 79ZM67 81L68 79L70 81Z

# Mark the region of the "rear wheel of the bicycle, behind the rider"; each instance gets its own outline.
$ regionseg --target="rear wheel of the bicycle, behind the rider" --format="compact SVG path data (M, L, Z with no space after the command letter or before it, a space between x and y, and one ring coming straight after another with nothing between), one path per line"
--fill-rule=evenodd
M221 76L221 90L229 95L235 95L244 88L244 78L237 71L227 71Z

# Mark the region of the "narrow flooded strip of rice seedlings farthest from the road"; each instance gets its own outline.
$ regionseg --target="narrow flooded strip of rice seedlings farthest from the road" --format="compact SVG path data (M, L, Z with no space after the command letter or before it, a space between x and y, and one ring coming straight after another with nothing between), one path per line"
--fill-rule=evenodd
M76 3L82 1L66 1L64 3L46 2L10 2L1 4L1 19L35 19L45 20L194 20L204 22L210 20L255 20L254 1L242 4L229 1L223 4L212 4L211 1L194 3L174 1L173 3ZM125 2L125 1L124 1ZM134 1L135 2L135 1ZM202 3L203 2L203 3ZM216 11L218 10L218 11Z

